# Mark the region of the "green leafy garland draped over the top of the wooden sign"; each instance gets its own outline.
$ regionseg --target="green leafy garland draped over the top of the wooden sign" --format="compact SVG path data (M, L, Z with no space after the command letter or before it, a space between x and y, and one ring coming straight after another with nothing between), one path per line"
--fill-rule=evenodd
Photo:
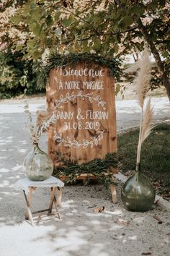
M44 87L48 82L50 69L55 67L66 67L68 65L74 65L81 62L95 62L101 66L107 67L110 71L110 76L115 77L115 79L120 78L122 73L120 69L121 60L114 58L104 58L102 56L97 56L96 54L89 53L71 53L71 54L52 54L45 61L40 61L35 66L35 72L39 73L38 85L40 88Z

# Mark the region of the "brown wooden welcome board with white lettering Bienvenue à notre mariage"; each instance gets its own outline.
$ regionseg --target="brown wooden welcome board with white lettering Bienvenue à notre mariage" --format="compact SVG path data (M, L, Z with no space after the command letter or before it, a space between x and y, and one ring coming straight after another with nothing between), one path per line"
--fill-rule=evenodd
M48 153L89 162L117 152L115 80L96 63L50 70L48 109L57 116L48 134Z

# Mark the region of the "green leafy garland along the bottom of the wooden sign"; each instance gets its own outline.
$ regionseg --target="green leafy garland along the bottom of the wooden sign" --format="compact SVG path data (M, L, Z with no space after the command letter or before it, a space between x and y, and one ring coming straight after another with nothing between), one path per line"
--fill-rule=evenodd
M105 187L115 184L112 180L112 171L109 171L107 175L106 173L110 167L117 168L117 153L107 153L103 159L95 158L92 161L81 163L80 165L71 160L60 158L58 153L56 153L55 158L58 159L55 163L60 162L63 165L55 166L53 176L66 176L66 184L74 182L77 176L81 174L93 174ZM89 183L89 180L87 175L86 184Z

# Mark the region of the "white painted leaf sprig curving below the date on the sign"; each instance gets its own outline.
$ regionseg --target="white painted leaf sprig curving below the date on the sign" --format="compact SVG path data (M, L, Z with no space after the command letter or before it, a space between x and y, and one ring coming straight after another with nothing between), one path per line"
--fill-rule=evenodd
M59 135L55 130L54 131L54 138L55 138L56 142L58 142L59 146L61 146L63 144L65 147L69 147L69 148L71 148L71 147L73 147L73 148L79 148L79 147L87 148L90 145L90 147L93 148L94 145L98 145L99 141L103 139L103 133L104 133L104 131L98 131L97 132L97 134L98 134L97 137L90 137L91 141L83 140L80 143L77 140L71 141L70 137L67 137L67 139L64 140L62 138L62 134Z

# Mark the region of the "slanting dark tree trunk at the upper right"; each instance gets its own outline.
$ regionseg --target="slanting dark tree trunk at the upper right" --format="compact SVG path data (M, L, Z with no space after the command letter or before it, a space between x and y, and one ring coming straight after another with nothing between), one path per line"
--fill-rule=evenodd
M143 22L139 19L136 20L138 22L138 28L140 29L141 33L143 33L144 38L146 39L146 42L151 48L151 53L153 54L156 64L158 65L159 72L161 73L161 77L164 83L164 86L166 88L167 95L169 97L170 101L170 81L168 74L165 70L164 63L161 61L160 54L158 53L158 50L156 49L156 46L154 45L153 41L151 40L151 37L148 33L148 30L143 25Z

